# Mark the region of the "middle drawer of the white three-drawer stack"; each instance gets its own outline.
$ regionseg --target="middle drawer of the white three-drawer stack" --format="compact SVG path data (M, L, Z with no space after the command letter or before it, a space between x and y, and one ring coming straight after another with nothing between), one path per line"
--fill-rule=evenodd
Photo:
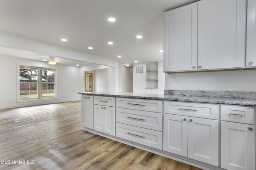
M162 131L162 113L116 108L116 122Z

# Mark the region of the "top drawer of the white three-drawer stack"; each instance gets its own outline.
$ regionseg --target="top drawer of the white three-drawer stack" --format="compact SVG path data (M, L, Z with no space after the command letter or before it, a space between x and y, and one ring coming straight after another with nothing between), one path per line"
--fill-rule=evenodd
M116 98L116 107L162 113L163 102L162 100Z

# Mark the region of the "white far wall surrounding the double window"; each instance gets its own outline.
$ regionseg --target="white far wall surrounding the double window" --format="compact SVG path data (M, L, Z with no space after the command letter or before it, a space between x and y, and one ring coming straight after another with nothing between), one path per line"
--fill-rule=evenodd
M30 102L18 102L19 65L56 68L57 98L54 100L43 99L40 101L30 100ZM51 66L46 62L0 55L0 73L0 109L76 101L80 100L81 96L78 92L82 92L83 90L79 85L80 68L77 66L66 66L62 64Z

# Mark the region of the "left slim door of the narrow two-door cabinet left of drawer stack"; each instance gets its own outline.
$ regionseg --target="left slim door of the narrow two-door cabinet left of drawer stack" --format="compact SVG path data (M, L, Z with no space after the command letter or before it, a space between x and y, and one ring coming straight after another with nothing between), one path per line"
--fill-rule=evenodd
M104 132L104 110L100 105L94 105L94 130Z

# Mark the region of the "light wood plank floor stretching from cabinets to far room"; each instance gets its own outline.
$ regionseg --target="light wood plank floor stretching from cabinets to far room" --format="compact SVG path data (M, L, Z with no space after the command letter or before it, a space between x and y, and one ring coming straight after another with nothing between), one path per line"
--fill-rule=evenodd
M199 170L83 131L80 110L80 102L0 109L0 169Z

